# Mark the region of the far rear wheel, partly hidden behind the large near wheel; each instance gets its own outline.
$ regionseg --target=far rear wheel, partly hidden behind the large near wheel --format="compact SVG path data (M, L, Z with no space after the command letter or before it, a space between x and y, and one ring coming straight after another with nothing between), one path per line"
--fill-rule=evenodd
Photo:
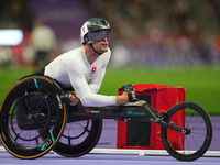
M102 120L85 120L67 123L54 152L67 157L78 157L91 151L102 131Z

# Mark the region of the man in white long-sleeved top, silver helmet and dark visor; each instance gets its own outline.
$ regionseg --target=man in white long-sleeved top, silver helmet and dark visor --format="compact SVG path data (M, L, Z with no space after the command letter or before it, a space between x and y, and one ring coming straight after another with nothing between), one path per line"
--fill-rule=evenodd
M81 47L64 53L51 62L44 70L65 88L73 87L86 107L102 107L129 102L127 92L121 96L98 95L106 67L111 57L109 48L110 25L100 18L88 20L80 30ZM134 92L132 97L135 98ZM78 103L77 97L69 92L70 106Z

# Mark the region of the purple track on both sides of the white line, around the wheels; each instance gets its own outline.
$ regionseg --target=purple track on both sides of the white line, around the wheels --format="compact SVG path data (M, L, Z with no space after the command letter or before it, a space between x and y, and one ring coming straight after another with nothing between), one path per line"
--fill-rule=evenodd
M213 127L213 139L209 151L220 152L220 117L211 117ZM103 131L97 148L116 148L117 147L117 122L113 120L103 121ZM140 156L125 154L87 154L81 157L63 157L58 154L46 154L36 160L19 160L10 155L8 152L0 152L0 164L4 165L210 165L219 164L220 157L200 157L194 162L179 162L172 156Z

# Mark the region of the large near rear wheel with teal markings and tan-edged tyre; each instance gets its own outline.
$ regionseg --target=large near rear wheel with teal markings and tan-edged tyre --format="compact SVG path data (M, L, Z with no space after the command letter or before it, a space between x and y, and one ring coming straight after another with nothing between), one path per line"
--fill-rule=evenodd
M61 92L61 88L44 76L25 77L9 90L0 107L0 140L10 154L36 158L58 143L67 117Z

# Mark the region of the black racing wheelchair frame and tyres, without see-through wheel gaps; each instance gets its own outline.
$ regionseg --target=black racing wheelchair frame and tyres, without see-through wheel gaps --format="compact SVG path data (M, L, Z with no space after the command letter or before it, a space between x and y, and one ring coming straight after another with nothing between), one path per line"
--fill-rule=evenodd
M46 125L44 128L44 131L42 131L43 125L41 123L41 128L37 129L38 136L41 136L42 142L37 142L36 144L32 147L30 146L20 146L22 144L18 144L18 140L22 140L22 138L16 135L13 139L12 134L15 134L15 129L13 129L13 133L9 132L10 127L9 124L12 125L15 116L15 108L16 107L16 101L21 95L24 95L24 100L26 100L28 94L34 95L35 92L41 91L42 95L44 96L43 101L47 101L46 99L48 98L48 95L53 97L54 102L56 102L57 110L55 112L52 112L52 107L50 107L50 103L45 103L47 106L46 109L48 116L44 114L41 112L42 117L45 118L45 120L48 120L51 122L51 125ZM59 139L62 138L63 131L65 130L65 124L72 123L72 122L78 122L78 121L100 121L102 119L116 119L116 120L135 120L135 121L146 121L146 122L154 122L156 124L162 125L162 141L164 143L165 148L167 152L174 156L177 160L180 161L194 161L202 156L206 151L208 150L211 139L212 139L212 125L210 118L208 113L198 105L194 102L182 102L173 108L169 109L169 111L166 112L158 112L154 108L152 108L146 101L144 100L139 100L136 102L129 102L123 106L108 106L108 107L84 107L80 101L77 106L70 107L67 103L62 100L62 95L64 95L64 89L52 78L45 77L45 76L28 76L24 77L20 80L18 80L14 86L8 91L6 95L1 107L0 107L0 140L3 144L3 146L14 156L20 157L20 158L36 158L40 156L43 156L51 150L57 148L57 153L62 154L62 147L63 144L59 145ZM19 94L16 94L19 92ZM44 92L46 95L44 95ZM15 103L14 103L15 102ZM10 106L8 106L10 105ZM18 103L19 105L19 103ZM26 103L28 105L28 103ZM26 106L29 107L29 106ZM68 110L66 110L66 107ZM33 108L32 108L33 109ZM204 121L204 125L206 127L206 135L205 140L199 146L198 151L193 152L193 153L185 153L185 152L179 152L176 148L172 146L169 143L169 139L167 134L169 131L167 130L173 130L175 132L179 132L182 135L190 135L191 134L191 129L188 128L187 125L177 125L175 124L172 120L172 117L184 109L191 109L197 113L197 116L201 117ZM14 112L11 114L11 111ZM55 113L56 116L54 116ZM62 117L62 120L59 120L59 116ZM38 114L36 116L26 116L28 120L30 120L33 124L38 127L37 124L42 119L38 119ZM29 119L30 118L30 119ZM55 120L56 119L56 120ZM16 121L18 122L18 121ZM37 123L37 124L36 124ZM57 124L58 123L58 124ZM100 124L100 123L99 123ZM7 130L8 129L8 130ZM29 130L29 129L28 129ZM35 128L33 129L35 130ZM45 131L46 130L46 131ZM61 131L59 131L61 130ZM99 127L99 130L101 130L101 127ZM95 131L96 132L96 131ZM37 138L38 138L37 136ZM89 136L89 135L88 135ZM85 148L81 153L77 153L75 155L68 155L68 154L62 154L65 156L81 156L86 153L88 153L92 147L95 147L96 143L98 142L98 139L100 136L100 131L97 133L96 138L92 139L94 142L89 146L89 148ZM86 139L87 140L87 139ZM85 141L86 141L85 140ZM7 142L11 141L11 142ZM90 143L89 141L87 142L88 144ZM56 147L56 145L58 145ZM13 150L13 147L19 148ZM72 145L67 146L67 148L73 147ZM185 151L185 148L183 150ZM24 154L22 152L30 152L30 154Z

